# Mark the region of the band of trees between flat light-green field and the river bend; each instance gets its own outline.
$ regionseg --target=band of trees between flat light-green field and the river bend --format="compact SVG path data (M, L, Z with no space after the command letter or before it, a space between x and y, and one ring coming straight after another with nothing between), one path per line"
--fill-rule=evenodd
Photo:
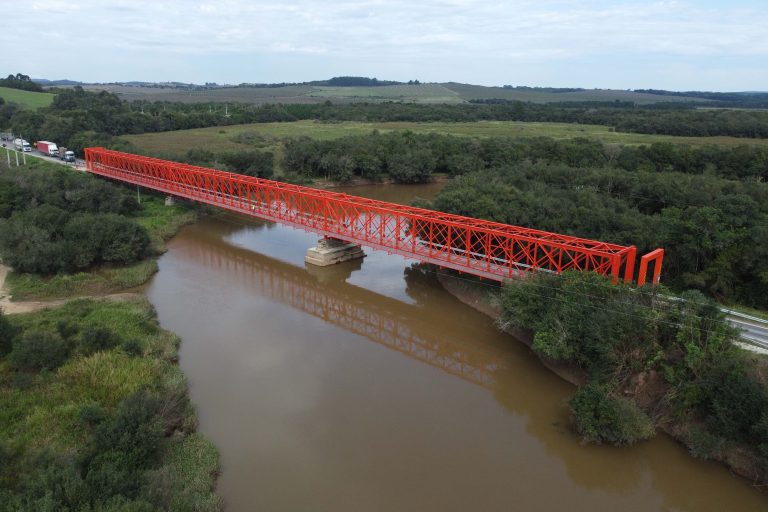
M583 138L469 139L407 131L373 132L331 141L289 139L285 142L283 167L292 173L336 181L389 175L399 182L423 182L433 173L460 175L523 162L768 180L768 147L762 146L694 148L655 143L632 147Z

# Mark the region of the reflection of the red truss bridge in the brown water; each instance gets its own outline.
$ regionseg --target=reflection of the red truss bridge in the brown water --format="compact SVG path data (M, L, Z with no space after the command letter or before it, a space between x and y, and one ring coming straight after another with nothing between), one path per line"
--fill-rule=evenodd
M460 319L445 318L446 329L435 336L434 326L422 318L418 306L342 282L360 268L361 260L304 269L222 243L220 235L206 233L198 241L202 243L179 254L181 259L224 270L257 293L291 308L486 388L494 387L495 373L503 370L503 352L493 345L481 340L470 344L446 335L463 331L458 324L456 329L450 328ZM333 286L326 285L329 280L334 281Z

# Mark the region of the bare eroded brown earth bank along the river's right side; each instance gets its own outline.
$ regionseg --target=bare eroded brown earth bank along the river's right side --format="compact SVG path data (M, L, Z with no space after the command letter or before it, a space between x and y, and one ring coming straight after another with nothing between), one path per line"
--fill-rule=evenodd
M469 280L453 279L449 274L438 274L438 276L438 280L448 293L500 323L503 310L499 293L492 293L487 287ZM508 325L500 328L526 345L532 345L532 332L521 331ZM583 389L583 386L589 382L586 373L578 366L552 360L537 350L534 350L534 353L545 367L579 389ZM763 375L764 379L768 360L756 355L750 355L750 357L757 358L752 359L754 363L752 369L758 375ZM760 379L758 377L758 381ZM728 442L718 437L711 432L701 417L679 410L674 400L668 400L669 392L670 385L664 376L653 368L634 370L624 380L624 384L615 390L616 395L636 403L644 413L648 414L656 428L683 444L694 457L721 462L732 472L749 480L753 486L765 489L768 485L768 472L764 467L763 459L757 452L757 447L750 449L742 443ZM738 407L738 404L733 404L733 407ZM733 412L733 414L739 413L741 411Z

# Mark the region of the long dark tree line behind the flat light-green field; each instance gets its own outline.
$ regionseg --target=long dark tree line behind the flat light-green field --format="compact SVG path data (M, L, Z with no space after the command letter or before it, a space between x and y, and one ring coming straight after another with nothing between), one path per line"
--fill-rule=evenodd
M502 102L471 105L418 105L408 103L354 103L334 105L229 105L137 101L128 103L107 92L89 92L76 86L54 89L53 104L45 109L20 110L0 105L0 125L9 126L29 140L49 139L82 150L91 145L119 144L114 136L163 132L231 124L322 121L469 122L536 121L600 124L619 131L669 135L768 137L768 112L745 110L692 110L635 108L599 104L561 106Z

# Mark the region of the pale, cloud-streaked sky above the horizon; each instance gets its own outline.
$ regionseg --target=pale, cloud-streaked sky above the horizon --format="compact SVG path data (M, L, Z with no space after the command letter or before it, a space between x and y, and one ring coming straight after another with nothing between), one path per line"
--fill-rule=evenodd
M768 0L4 3L2 75L768 90Z

